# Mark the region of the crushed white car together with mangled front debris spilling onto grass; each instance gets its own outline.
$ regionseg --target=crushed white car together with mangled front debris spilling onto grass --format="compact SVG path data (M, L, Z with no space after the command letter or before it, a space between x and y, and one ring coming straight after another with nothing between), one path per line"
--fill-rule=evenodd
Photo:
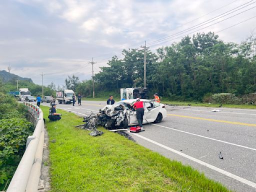
M164 104L148 99L141 100L144 102L143 123L157 123L166 117ZM99 112L84 116L84 124L77 125L76 127L93 130L90 133L91 135L102 134L101 131L96 129L96 126L103 126L108 130L126 129L128 125L137 124L136 111L132 107L135 101L136 99L126 99L113 105L106 105L99 109Z

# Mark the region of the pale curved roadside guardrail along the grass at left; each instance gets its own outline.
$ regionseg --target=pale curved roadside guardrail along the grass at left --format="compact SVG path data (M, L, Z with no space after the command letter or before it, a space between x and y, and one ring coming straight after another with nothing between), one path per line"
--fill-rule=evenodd
M42 110L35 104L23 102L36 126L27 137L25 152L17 166L6 192L37 191L44 142L44 122Z

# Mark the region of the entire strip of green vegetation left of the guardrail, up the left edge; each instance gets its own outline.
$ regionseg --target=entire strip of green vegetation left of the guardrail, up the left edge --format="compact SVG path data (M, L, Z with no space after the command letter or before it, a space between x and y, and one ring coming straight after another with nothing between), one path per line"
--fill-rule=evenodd
M24 106L1 91L0 191L7 188L24 153L27 136L33 131L33 125L25 118Z

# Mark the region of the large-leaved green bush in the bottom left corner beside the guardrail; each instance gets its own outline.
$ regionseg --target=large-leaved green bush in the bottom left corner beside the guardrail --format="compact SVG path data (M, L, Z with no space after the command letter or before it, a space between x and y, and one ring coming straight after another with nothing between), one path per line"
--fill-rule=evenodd
M25 150L32 124L25 118L13 117L0 121L0 190L11 179Z

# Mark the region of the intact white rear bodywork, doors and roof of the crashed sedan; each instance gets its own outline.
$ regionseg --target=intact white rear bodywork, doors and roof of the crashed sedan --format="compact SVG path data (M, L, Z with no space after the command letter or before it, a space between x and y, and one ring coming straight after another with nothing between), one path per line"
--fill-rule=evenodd
M164 104L155 102L153 100L148 100L148 99L140 99L140 100L143 101L143 105L144 105L143 124L154 122L159 113L162 115L162 119L166 117L166 109L164 107ZM119 101L118 103L121 103L121 102L132 106L136 102L136 99L126 99L126 100ZM128 125L138 124L138 121L136 118L136 111L127 110L127 118L128 118Z

